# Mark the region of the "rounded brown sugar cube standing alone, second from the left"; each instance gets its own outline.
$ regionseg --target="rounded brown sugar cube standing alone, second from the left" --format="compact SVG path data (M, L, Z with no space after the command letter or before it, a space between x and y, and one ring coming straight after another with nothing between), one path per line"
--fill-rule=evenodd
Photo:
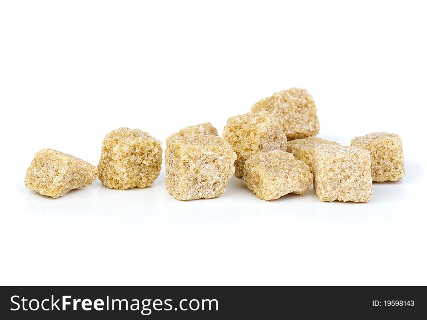
M114 189L144 188L157 179L161 165L159 140L139 129L118 128L102 142L99 180Z

